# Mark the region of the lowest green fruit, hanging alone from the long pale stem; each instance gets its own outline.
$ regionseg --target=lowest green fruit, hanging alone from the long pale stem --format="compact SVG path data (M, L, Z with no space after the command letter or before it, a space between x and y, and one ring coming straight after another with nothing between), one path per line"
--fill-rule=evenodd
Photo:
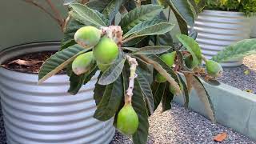
M132 135L138 129L138 115L131 104L125 104L119 111L117 128L126 135Z

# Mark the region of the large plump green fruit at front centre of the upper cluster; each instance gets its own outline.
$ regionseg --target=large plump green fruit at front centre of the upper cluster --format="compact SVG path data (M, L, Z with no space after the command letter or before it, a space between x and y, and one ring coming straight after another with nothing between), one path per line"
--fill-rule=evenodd
M110 38L103 37L93 49L94 58L102 63L109 64L118 58L118 45Z

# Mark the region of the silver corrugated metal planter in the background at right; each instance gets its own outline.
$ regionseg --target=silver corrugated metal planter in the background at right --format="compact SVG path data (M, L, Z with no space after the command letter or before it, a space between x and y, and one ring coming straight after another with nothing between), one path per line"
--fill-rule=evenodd
M204 10L198 15L194 29L202 54L212 58L225 46L250 38L250 20L240 12ZM223 62L222 66L239 66L242 59Z

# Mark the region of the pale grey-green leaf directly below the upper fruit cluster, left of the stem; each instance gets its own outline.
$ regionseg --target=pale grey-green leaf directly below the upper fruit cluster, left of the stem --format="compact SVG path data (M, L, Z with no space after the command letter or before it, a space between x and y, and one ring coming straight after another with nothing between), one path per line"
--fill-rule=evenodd
M118 59L117 62L114 62L99 78L98 84L100 85L109 85L118 79L119 75L122 73L122 68L126 62L126 59Z

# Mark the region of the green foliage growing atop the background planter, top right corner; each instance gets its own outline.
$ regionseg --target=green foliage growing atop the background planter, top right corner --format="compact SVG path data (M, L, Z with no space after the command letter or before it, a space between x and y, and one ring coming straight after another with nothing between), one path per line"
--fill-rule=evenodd
M256 13L256 0L206 0L207 10L239 11L247 16Z

